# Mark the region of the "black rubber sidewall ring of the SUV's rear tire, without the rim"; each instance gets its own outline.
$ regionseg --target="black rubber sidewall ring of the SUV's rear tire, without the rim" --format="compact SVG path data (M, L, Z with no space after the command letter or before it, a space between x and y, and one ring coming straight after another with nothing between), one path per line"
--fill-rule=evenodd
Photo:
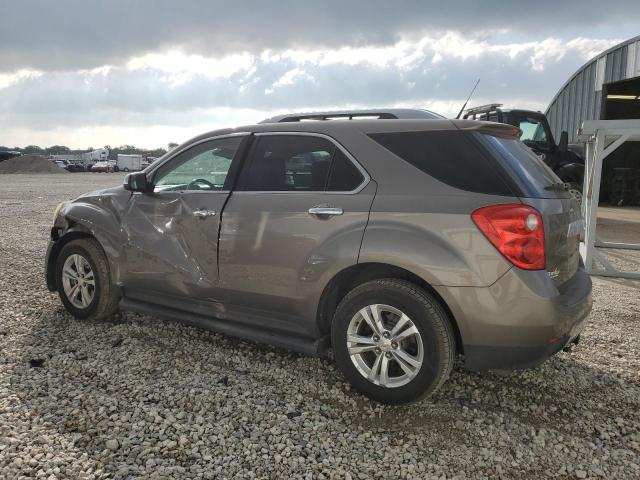
M435 327L434 322L439 319L433 318L430 309L426 309L422 302L411 294L389 286L376 288L372 285L371 288L348 297L350 298L346 298L336 310L332 326L332 344L338 366L356 390L383 403L407 403L439 386L444 368L445 339ZM406 385L394 388L375 385L356 369L351 360L346 342L349 322L358 310L371 304L386 304L397 308L413 321L420 332L424 350L423 363L416 377Z

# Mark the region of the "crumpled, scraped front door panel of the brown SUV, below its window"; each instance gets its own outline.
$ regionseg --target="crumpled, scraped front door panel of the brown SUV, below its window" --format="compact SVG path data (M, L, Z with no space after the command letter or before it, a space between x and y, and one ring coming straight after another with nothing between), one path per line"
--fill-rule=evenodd
M226 195L134 195L123 220L125 289L212 297L218 277L219 211ZM193 214L199 208L217 214L199 218Z

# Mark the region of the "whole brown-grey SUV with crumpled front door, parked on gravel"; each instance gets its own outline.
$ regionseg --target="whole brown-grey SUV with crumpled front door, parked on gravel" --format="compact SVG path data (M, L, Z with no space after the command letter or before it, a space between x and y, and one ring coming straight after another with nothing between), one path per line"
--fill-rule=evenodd
M591 281L580 209L518 133L412 110L205 133L59 205L47 285L76 318L332 348L385 403L437 390L456 354L533 366L577 342Z

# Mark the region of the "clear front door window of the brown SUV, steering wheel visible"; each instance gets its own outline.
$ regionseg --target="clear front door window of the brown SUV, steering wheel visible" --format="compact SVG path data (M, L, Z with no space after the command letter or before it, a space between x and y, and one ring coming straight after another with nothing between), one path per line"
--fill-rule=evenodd
M154 179L154 192L224 190L231 162L244 137L201 143L163 165Z

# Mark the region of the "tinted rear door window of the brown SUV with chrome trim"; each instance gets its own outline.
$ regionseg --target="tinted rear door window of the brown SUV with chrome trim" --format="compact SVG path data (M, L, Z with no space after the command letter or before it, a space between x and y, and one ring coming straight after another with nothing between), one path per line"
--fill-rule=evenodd
M307 135L258 137L240 189L259 192L351 191L364 177L326 138Z

